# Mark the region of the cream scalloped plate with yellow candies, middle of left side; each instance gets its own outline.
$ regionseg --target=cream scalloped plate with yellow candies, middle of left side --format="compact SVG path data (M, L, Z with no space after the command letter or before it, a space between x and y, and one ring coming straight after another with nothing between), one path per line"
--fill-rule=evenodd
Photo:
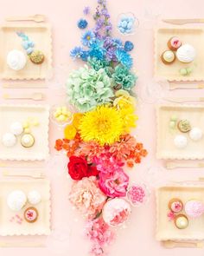
M15 121L26 121L28 118L36 118L39 125L31 128L31 134L35 137L35 144L31 148L23 148L19 137L12 148L3 145L3 134L10 132L10 125ZM48 105L32 104L1 104L0 105L0 159L16 161L42 161L48 158Z

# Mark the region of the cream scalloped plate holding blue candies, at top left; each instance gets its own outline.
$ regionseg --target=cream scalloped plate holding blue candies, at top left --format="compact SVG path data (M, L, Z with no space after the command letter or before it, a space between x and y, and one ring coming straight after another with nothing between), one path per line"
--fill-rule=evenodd
M6 56L12 49L22 48L22 38L16 35L22 31L35 43L35 49L41 50L45 61L39 65L28 62L24 69L15 71L8 67ZM25 52L26 54L26 52ZM0 77L3 79L45 79L52 68L52 36L48 23L5 23L0 27Z

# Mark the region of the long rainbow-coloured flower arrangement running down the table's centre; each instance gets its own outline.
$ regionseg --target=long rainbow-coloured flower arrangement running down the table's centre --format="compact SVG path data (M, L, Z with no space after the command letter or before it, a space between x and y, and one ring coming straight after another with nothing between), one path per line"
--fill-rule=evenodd
M128 168L140 163L147 151L130 134L136 127L136 101L132 89L137 75L130 54L134 45L112 37L105 0L98 0L95 27L81 36L82 46L71 50L74 59L86 62L67 80L68 101L78 109L65 138L55 142L66 150L67 172L73 180L69 200L86 219L86 236L92 254L102 255L124 224L131 206L143 202L142 187L131 187ZM84 14L89 14L86 7ZM81 30L85 19L77 23ZM124 171L127 169L127 171Z

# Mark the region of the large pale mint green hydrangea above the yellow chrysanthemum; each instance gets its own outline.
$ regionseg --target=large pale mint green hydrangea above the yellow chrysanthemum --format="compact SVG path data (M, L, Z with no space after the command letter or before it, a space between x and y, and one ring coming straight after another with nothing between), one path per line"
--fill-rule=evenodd
M112 102L112 79L104 69L89 69L87 66L74 70L67 80L68 100L80 112Z

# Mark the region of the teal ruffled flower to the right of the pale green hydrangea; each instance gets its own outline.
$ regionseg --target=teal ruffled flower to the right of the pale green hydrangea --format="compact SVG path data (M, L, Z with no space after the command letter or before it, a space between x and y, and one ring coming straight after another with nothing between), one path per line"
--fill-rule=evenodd
M116 84L120 84L122 89L130 90L137 82L137 75L131 73L129 69L122 65L115 68L112 78Z

